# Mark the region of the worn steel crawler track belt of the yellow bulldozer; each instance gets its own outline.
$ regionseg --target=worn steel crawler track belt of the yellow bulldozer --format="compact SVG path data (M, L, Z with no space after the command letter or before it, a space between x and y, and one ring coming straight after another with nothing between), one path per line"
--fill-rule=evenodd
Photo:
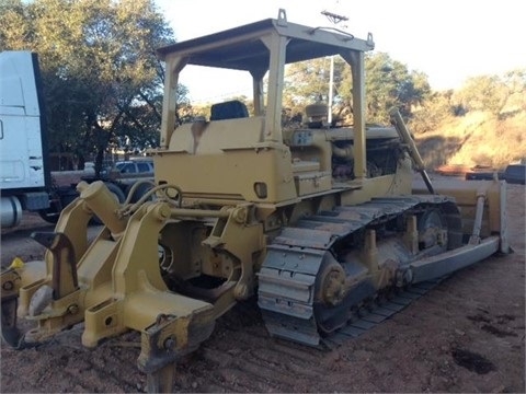
M265 262L258 274L259 299L268 333L309 346L334 347L351 337L357 337L401 311L413 300L431 290L437 281L421 282L409 289L393 289L395 297L378 297L367 281L352 290L347 303L335 306L332 313L344 314L344 326L320 335L316 321L316 280L324 263L331 258L330 248L353 232L390 220L420 205L447 205L445 196L410 196L378 198L352 207L338 207L299 220L284 228L267 248ZM459 220L454 210L446 209L449 222ZM453 233L450 236L461 236ZM361 276L367 269L359 264L346 267L346 275ZM382 291L386 292L386 291ZM364 304L364 300L381 303ZM340 308L340 310L338 309Z

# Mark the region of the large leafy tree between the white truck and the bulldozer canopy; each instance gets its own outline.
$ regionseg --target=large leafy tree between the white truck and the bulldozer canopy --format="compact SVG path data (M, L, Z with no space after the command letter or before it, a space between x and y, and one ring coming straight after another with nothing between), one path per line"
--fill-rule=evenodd
M152 0L0 0L0 49L38 54L52 149L156 146L173 32ZM186 93L182 88L183 95Z

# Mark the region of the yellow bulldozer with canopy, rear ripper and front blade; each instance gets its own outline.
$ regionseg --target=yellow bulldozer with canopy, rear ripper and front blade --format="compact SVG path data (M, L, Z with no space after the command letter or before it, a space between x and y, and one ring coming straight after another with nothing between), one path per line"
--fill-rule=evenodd
M370 34L290 23L284 10L158 49L155 183L124 204L101 182L78 185L55 231L32 235L45 259L1 273L3 339L22 349L83 323L95 347L136 331L148 390L170 392L178 360L239 302L258 299L271 336L316 347L386 318L393 294L507 253L504 182L432 183L396 108L390 125L366 124L371 49ZM353 125L335 127L316 104L285 126L287 65L329 56L350 68ZM179 125L187 65L250 73L253 113L230 100ZM93 216L104 225L89 240ZM356 326L364 309L374 318ZM35 327L22 333L16 317Z

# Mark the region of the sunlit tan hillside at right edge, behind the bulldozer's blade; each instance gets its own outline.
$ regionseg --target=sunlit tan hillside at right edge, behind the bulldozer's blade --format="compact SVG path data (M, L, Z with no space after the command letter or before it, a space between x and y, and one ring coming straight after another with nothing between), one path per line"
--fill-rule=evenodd
M447 117L435 130L414 137L428 169L443 164L504 167L526 158L526 112L499 117L470 112Z

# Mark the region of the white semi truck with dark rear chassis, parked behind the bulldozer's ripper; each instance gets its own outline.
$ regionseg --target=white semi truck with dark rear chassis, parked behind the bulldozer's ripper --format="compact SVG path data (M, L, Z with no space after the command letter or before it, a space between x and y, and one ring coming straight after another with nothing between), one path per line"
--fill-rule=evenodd
M48 158L38 57L24 50L2 51L0 53L2 228L16 227L24 211L38 212L46 221L56 222L62 208L79 196L75 185L57 186L52 182ZM89 183L103 181L115 198L123 202L125 194L135 182L152 181L153 174L108 174L98 177L87 175L83 179ZM144 193L145 188L139 188L134 195L134 200Z

